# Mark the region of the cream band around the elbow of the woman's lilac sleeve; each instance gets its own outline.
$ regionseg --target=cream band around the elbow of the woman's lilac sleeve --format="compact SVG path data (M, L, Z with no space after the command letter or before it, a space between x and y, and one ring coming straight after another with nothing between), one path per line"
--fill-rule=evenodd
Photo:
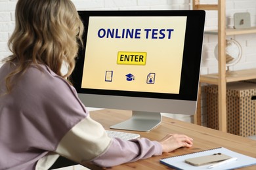
M102 154L111 140L104 127L87 116L66 133L58 144L56 152L82 164Z

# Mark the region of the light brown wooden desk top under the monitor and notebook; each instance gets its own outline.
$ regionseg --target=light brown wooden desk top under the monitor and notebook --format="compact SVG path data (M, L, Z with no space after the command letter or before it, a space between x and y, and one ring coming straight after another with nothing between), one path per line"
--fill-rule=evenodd
M130 116L131 112L125 110L106 109L91 112L91 118L100 122L105 129L109 129L110 126L126 120ZM123 165L112 167L111 169L168 169L167 166L162 165L159 162L161 158L198 152L220 146L235 152L239 152L240 154L245 154L247 156L256 158L256 141L237 135L232 135L230 133L224 133L223 131L198 126L196 124L189 124L187 122L174 120L164 116L161 124L152 129L152 131L135 131L135 133L139 133L141 137L146 137L151 140L159 140L165 137L167 133L182 133L192 137L192 139L194 139L194 144L192 148L179 148L173 152L163 154L161 156L153 156L152 158L146 160L125 163ZM246 169L256 169L256 165L246 167Z

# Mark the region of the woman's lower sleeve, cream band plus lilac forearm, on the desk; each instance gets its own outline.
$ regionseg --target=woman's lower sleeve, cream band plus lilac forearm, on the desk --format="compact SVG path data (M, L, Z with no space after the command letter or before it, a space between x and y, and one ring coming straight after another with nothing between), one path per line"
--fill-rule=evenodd
M162 150L160 143L145 138L111 139L98 122L87 116L64 136L56 152L81 165L93 161L100 167L110 167L161 155Z

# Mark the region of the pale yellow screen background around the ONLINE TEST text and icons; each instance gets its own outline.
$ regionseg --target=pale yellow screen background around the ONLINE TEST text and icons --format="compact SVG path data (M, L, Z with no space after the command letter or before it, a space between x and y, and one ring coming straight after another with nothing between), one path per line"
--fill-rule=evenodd
M140 39L98 37L100 28L141 29ZM144 29L174 29L171 39L146 39ZM87 32L82 88L135 92L179 93L186 16L90 17ZM151 35L151 34L150 34ZM118 52L146 52L146 65L117 65ZM113 71L112 82L105 81ZM127 74L135 80L127 81ZM147 75L156 73L154 84Z

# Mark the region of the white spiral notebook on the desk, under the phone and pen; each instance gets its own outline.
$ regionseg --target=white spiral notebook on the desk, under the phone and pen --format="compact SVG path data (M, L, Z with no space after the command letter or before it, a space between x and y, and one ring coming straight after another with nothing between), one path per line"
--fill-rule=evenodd
M214 170L214 169L218 169L218 170L235 169L235 168L239 168L239 167L256 165L256 158L252 158L250 156L245 156L244 154L239 154L238 152L234 152L232 150L228 150L227 148L223 148L223 147L213 148L210 150L203 150L201 152L194 152L191 154L184 154L181 156L172 156L169 158L164 158L164 159L160 160L160 163L163 163L164 165L167 165L174 169L190 169L190 170L208 169L209 170L208 167L211 164L202 165L202 166L193 166L193 165L186 163L184 160L186 160L188 158L207 156L207 155L217 154L217 153L222 153L222 154L225 154L225 155L228 155L231 157L236 157L236 158L238 158L238 160L228 162L223 165L219 165L218 167L212 168L212 170Z

